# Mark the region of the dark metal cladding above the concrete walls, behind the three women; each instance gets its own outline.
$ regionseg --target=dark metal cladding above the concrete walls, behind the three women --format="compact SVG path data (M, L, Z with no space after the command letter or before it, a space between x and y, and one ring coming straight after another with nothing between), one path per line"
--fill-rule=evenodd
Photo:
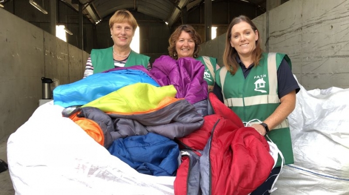
M49 11L50 0L38 1ZM23 20L50 32L50 17L31 6L28 0L11 0L6 3L5 9L21 17ZM57 1L57 25L65 25L73 32L67 34L67 42L78 46L78 12L62 1ZM131 11L132 12L132 11ZM181 24L181 17L170 28L164 21L142 14L132 12L140 27L140 52L151 57L151 62L167 55L168 38L175 27ZM245 14L253 19L263 13L263 10L255 6L239 1L216 0L212 2L212 23L217 26L217 36L226 32L230 21L234 16ZM111 14L112 15L112 14ZM113 45L110 38L109 17L106 17L99 24L92 24L86 17L83 18L83 45L86 52L91 52L92 48L106 48ZM205 17L204 4L199 4L188 11L187 21L199 32L202 40L205 38Z

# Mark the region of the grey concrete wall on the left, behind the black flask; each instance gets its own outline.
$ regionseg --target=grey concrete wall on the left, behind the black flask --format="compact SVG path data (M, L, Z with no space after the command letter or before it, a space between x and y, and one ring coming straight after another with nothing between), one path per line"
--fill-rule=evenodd
M18 129L38 107L41 77L60 84L82 78L89 56L0 8L0 140Z

